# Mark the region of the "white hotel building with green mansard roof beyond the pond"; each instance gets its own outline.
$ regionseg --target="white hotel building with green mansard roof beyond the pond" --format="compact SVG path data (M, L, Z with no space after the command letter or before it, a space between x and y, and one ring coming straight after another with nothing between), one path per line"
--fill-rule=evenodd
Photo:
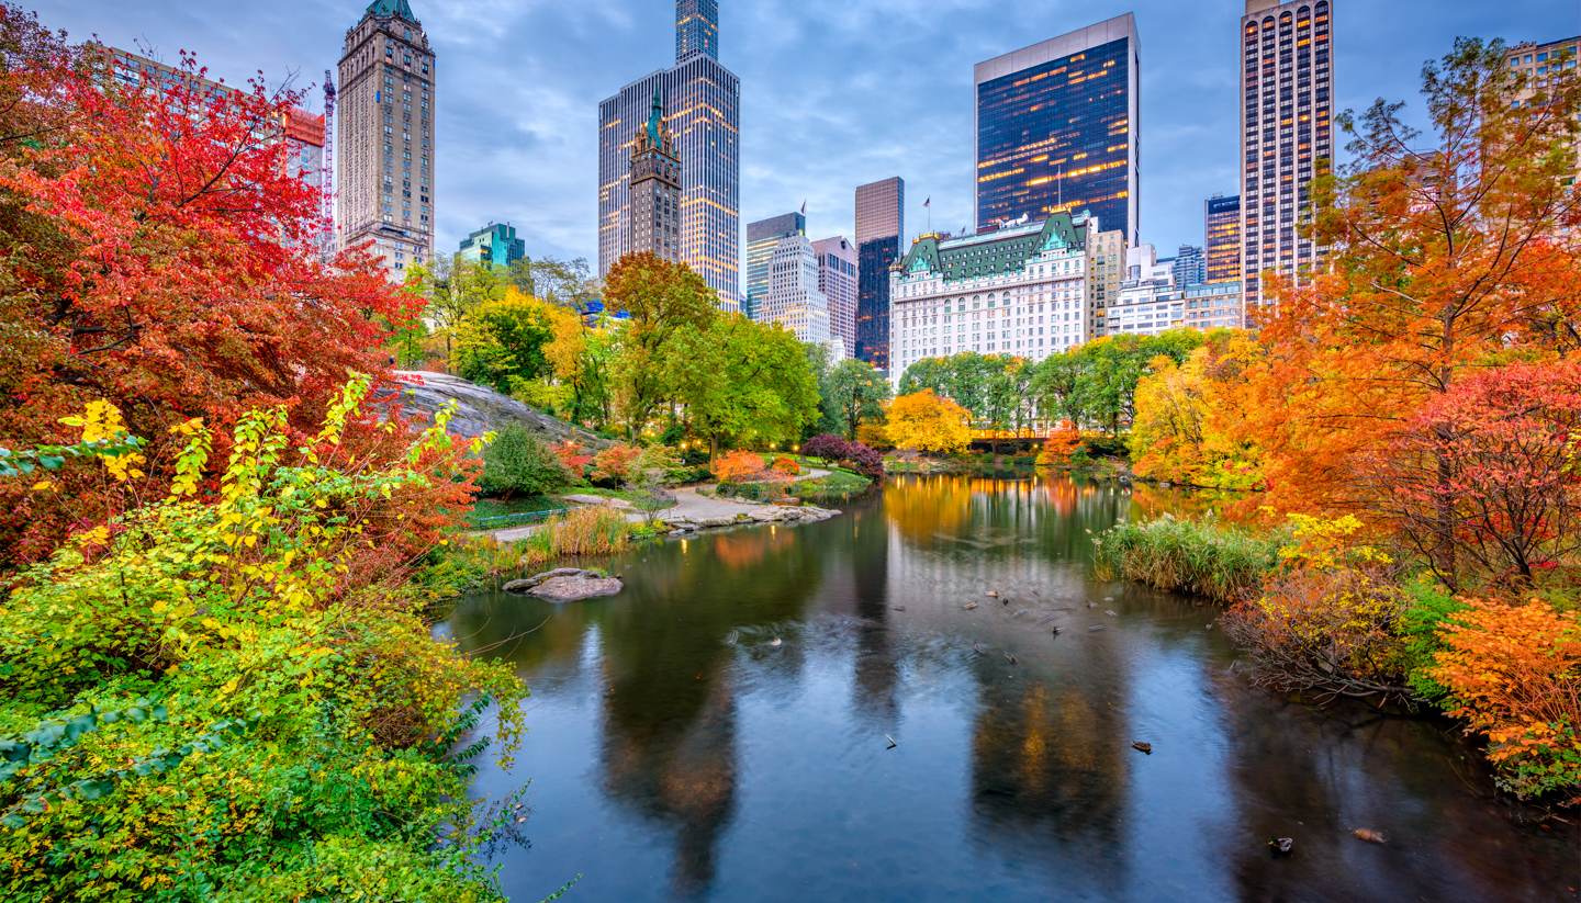
M1096 223L1094 223L1096 226ZM890 382L961 352L1039 362L1088 338L1088 227L1069 213L982 235L922 235L892 273Z

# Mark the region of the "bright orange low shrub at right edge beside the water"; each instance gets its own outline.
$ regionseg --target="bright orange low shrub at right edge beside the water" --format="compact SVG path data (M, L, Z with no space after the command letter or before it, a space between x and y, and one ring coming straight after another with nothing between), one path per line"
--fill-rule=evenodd
M1428 669L1450 714L1489 742L1500 783L1581 804L1581 614L1543 601L1470 600Z

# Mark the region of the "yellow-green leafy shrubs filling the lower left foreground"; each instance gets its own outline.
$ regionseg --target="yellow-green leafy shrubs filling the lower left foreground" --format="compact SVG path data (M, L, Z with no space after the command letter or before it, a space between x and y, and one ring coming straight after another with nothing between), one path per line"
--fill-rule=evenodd
M444 412L402 463L354 458L346 428L367 390L353 382L296 447L283 407L243 414L212 481L217 442L185 423L168 497L11 584L8 898L496 897L473 865L470 766L447 750L474 693L501 703L511 740L523 690L436 643L408 583L416 559L373 548L384 518L424 504L414 489L457 477L465 448Z

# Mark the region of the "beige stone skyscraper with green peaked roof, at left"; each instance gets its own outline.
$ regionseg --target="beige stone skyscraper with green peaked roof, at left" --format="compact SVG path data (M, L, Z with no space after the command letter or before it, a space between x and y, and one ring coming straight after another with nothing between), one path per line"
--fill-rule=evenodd
M397 281L433 257L436 71L406 0L373 0L346 30L335 226L341 248L372 242Z

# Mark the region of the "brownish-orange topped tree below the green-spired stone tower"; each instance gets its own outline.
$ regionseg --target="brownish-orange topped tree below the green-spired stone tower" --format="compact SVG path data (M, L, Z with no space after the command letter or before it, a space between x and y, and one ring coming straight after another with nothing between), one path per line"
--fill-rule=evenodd
M705 330L718 316L715 294L685 264L655 254L623 257L604 281L606 305L629 314L612 387L628 439L636 439L667 398L667 352L681 330Z

